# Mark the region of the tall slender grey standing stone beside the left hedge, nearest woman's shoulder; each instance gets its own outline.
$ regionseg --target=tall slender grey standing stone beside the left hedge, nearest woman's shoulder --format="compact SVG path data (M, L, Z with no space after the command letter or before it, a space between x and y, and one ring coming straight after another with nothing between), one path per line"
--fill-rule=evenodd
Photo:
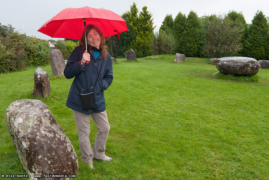
M53 76L64 75L65 60L62 56L62 52L59 49L50 51L50 65Z

